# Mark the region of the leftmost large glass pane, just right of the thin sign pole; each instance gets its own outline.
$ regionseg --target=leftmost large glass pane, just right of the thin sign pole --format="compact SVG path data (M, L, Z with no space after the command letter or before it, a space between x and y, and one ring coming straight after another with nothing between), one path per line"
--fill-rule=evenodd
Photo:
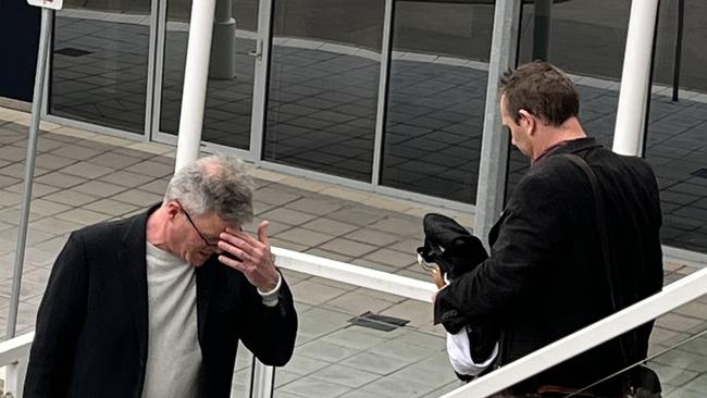
M64 2L54 22L50 114L145 132L149 4Z

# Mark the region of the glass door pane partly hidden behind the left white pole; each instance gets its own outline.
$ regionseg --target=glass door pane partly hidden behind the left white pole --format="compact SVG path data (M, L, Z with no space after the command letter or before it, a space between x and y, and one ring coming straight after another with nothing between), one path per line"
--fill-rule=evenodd
M227 12L230 4L233 5L231 13ZM171 0L168 3L160 130L174 135L178 130L182 107L190 10L190 1ZM216 10L216 22L224 24L214 25L201 139L248 149L255 73L255 58L248 53L256 49L258 0L233 3L218 0ZM219 12L224 10L226 13L220 15ZM227 24L230 16L235 20L235 33L233 25ZM219 41L228 34L235 34L235 49L230 49L227 40ZM233 53L234 59L227 60L224 53ZM235 70L231 69L228 61L235 64Z

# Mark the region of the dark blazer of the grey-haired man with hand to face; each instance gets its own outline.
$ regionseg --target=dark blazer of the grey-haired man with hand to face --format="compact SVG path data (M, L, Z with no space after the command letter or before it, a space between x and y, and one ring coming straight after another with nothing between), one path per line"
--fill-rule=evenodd
M71 234L39 306L26 398L139 398L148 341L146 222L153 210ZM263 363L293 355L297 315L284 283L262 304L245 276L215 257L197 271L201 396L228 397L238 340Z

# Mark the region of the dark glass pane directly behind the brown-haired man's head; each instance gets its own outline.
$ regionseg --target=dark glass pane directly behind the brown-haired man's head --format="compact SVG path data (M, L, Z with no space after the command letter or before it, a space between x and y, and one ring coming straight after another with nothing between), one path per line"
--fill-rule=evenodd
M586 134L607 148L613 141L629 4L613 0L554 1L548 24L547 59L569 73L580 94L580 121ZM522 7L519 64L538 53L535 37L535 4ZM506 198L522 179L530 160L511 146Z

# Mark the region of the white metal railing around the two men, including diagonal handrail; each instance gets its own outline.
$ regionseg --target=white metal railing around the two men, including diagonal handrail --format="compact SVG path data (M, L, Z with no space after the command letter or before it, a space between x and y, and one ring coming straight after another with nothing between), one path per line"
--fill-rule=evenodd
M273 248L273 252L276 254L277 265L285 270L297 271L424 302L432 302L432 298L437 291L437 288L432 283L405 276L281 248ZM466 386L444 395L442 398L487 397L654 320L705 294L707 294L707 269L685 276L666 286L661 293L480 377ZM12 393L14 397L22 396L21 387L24 383L27 358L33 338L34 332L0 343L0 365L8 365L5 391ZM271 397L274 369L261 364L255 358L253 361L253 388L251 388L250 397Z

